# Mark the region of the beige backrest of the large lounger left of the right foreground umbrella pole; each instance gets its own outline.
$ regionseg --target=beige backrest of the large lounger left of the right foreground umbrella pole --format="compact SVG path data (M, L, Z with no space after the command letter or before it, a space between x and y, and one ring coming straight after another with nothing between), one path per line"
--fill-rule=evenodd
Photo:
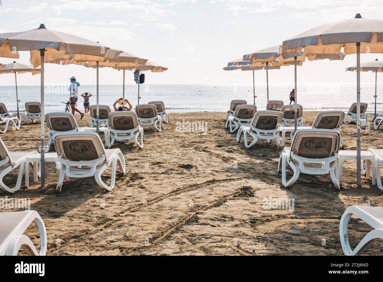
M339 151L339 132L329 129L297 130L291 152L303 158L329 158Z

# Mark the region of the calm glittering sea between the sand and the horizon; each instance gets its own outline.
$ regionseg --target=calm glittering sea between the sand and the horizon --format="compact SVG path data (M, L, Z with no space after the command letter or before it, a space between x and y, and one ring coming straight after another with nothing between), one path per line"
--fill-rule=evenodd
M289 94L293 84L270 84L269 99L282 100L289 104ZM45 112L64 111L69 101L68 85L47 85L44 87ZM347 110L356 102L355 83L311 83L298 84L296 101L304 110ZM125 86L125 98L135 107L138 103L137 85ZM383 109L383 83L377 84L376 109ZM93 95L90 104L96 104L96 86L81 85L80 93L89 92ZM100 105L113 106L122 97L122 85L100 85ZM368 110L375 107L375 84L361 83L361 102L368 103ZM254 104L252 84L141 84L139 104L150 101L163 101L169 112L226 112L230 101L244 99L247 104ZM255 105L264 110L267 103L265 84L255 85ZM5 103L8 111L16 111L15 86L0 86L0 102ZM20 111L25 111L25 102L40 101L40 86L18 86ZM83 98L79 96L78 108L83 110Z

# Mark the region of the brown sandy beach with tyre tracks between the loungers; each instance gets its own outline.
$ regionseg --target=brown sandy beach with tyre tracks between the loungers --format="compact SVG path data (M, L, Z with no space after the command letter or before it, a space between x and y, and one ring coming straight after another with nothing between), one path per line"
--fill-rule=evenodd
M304 125L311 125L316 114L304 112ZM79 126L90 124L88 114L75 117ZM182 119L207 122L207 134L179 132L176 122ZM94 178L71 178L56 193L56 166L47 163L45 188L33 183L30 170L28 189L13 195L1 190L0 196L31 199L31 209L46 225L47 255L342 255L344 210L366 201L383 205L382 191L371 180L362 176L362 188L357 187L355 161L345 162L340 191L329 175L301 174L284 188L277 171L282 149L264 140L246 149L243 139L237 143L236 135L225 130L225 121L225 112L170 114L161 132L144 128L143 150L131 140L116 142L126 174L116 177L110 192ZM383 148L382 132L363 129L362 150ZM355 150L355 124L343 125L341 135L345 149ZM47 136L46 131L46 142ZM10 151L36 150L40 124L0 137ZM4 182L14 186L17 173ZM110 179L110 169L103 176ZM270 197L291 198L294 209L267 209L263 200ZM349 228L352 248L371 230L359 219L352 219ZM37 228L25 234L38 245ZM363 254L382 255L379 243Z

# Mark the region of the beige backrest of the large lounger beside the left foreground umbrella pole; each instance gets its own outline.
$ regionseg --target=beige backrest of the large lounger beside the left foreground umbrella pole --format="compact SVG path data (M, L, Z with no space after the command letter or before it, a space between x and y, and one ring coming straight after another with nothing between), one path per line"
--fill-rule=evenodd
M95 132L59 133L54 137L57 155L72 162L97 160L105 154L100 136Z

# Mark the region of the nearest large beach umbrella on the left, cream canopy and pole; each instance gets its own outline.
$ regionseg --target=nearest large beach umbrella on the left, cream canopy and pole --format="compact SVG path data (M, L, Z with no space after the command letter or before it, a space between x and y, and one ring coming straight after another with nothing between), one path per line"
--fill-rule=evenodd
M19 51L29 51L30 61L36 68L41 65L41 116L44 117L44 63L66 60L104 61L106 54L111 59L120 52L109 52L109 48L84 38L49 30L42 23L39 28L0 34L0 57L19 58ZM117 53L117 54L116 54ZM97 87L98 88L98 87ZM41 122L41 186L45 186L44 122Z

